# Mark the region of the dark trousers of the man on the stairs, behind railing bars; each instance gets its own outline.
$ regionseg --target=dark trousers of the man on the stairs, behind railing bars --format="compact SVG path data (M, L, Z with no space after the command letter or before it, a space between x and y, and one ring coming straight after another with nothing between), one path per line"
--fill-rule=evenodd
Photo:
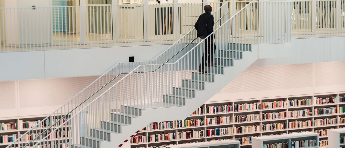
M204 67L206 65L205 63L208 63L208 64L213 63L215 50L216 50L216 45L213 44L213 39L212 40L206 39L204 42L204 54L201 57L201 64L199 65L200 69L202 69L202 70L204 69ZM207 59L205 59L204 55L207 56ZM206 60L207 60L207 62L206 62Z

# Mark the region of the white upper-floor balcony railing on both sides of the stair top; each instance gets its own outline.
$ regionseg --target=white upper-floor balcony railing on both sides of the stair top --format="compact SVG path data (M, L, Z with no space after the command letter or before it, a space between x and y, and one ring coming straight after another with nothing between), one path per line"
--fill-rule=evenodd
M230 16L247 3L229 3ZM172 44L193 28L205 4L0 8L0 52ZM222 5L207 4L214 10ZM257 15L244 19L258 20L259 9L253 8L250 12ZM294 0L286 17L292 19L292 38L342 36L345 0ZM262 35L260 28L250 27Z

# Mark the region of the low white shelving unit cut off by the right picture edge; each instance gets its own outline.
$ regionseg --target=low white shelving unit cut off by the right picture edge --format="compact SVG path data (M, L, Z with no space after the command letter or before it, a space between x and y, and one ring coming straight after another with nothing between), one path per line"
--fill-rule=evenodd
M331 129L327 130L328 147L329 148L344 148L345 143L340 142L340 137L345 136L345 129Z

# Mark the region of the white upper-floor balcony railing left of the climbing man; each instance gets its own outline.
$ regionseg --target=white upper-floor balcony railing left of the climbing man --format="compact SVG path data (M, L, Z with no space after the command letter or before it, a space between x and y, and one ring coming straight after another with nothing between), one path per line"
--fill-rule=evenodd
M0 8L0 52L173 44L206 4L223 3Z

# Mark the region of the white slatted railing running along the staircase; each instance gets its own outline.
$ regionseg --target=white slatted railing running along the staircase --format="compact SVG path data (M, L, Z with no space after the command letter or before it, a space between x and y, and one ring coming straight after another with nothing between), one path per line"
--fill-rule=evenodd
M197 44L189 44L193 47L185 52L173 50L175 53L166 52L169 56L166 57L165 54L162 54L160 55L161 59L146 65L143 65L145 63L138 63L139 66L131 65L129 68L134 67L133 70L122 75L119 81L109 83L107 88L102 88L104 90L101 91L101 94L97 94L97 97L88 98L92 92L97 90L96 87L101 85L88 86L89 89L82 91L75 99L71 99L71 104L65 104L51 115L57 118L53 118L50 127L35 126L21 135L21 137L35 135L34 137L28 141L21 141L19 138L12 142L8 148L48 147L48 145L61 144L75 147L79 147L76 145L81 144L98 148L100 141L110 140L108 133L125 132L121 130L121 126L130 124L133 117L141 116L140 110L143 108L188 105L185 104L185 98L193 97L194 93L192 92L196 90L203 90L203 82L213 82L209 74L197 72L199 63L206 62L206 58L201 58L203 52L206 55L207 53L214 53L216 48L219 50L219 52L214 53L215 56L210 57L219 66L213 66L208 71L211 74L224 74L223 68L234 66L234 59L242 59L243 57L239 53L249 52L251 50L250 44L289 43L291 34L288 28L291 27L292 23L289 17L284 16L292 13L291 7L292 3L285 1L250 2L230 19L226 19L208 37L198 40ZM256 11L257 8L260 10ZM267 13L277 8L280 8L279 11ZM259 20L247 21L244 19L253 18L257 15L262 15ZM275 25L279 27L273 27ZM261 32L254 28L260 28ZM193 30L190 33L193 33ZM207 46L210 41L209 38L213 36L215 36L215 44ZM188 45L188 41L195 41L195 36L184 37L187 38L184 39L187 42L181 44ZM176 48L184 49L183 46ZM176 51L183 55L178 56ZM120 69L124 68L121 67L124 65L118 66ZM95 82L103 83L104 80L118 75L113 75L113 73L113 71L109 71ZM187 80L191 77L196 81ZM81 103L79 98L86 100ZM73 105L73 103L75 104ZM75 106L76 104L79 105ZM173 109L171 108L171 110ZM58 128L51 128L53 126ZM62 135L61 137L61 135L56 134L61 129L68 136ZM102 139L99 138L101 135Z

